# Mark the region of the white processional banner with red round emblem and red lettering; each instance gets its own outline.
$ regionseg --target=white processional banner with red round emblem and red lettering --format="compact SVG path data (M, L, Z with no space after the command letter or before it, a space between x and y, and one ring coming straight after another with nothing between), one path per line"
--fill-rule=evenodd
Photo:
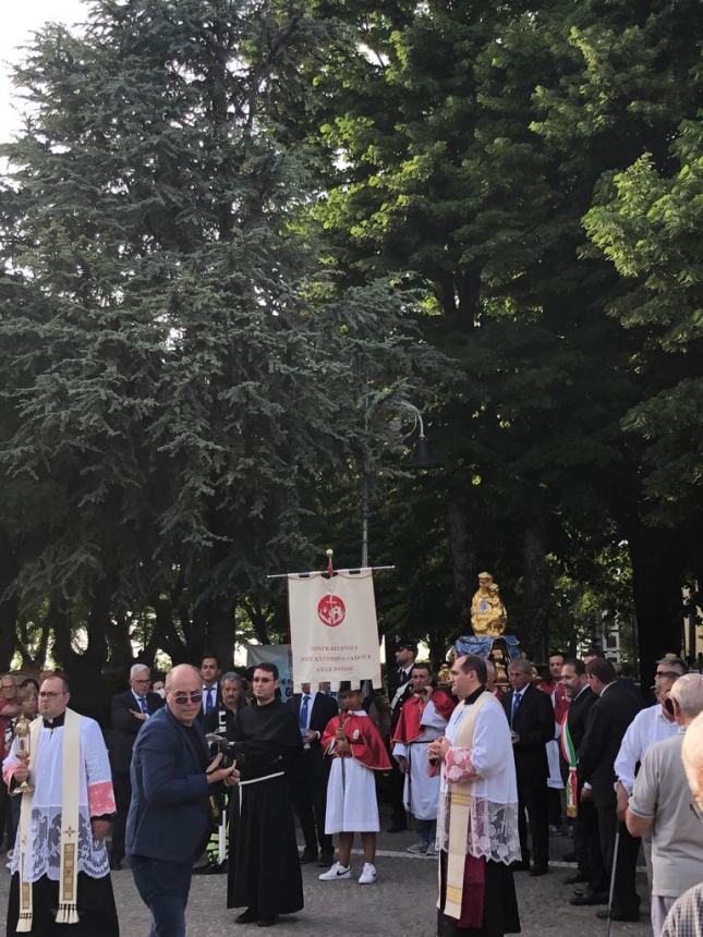
M369 569L335 575L288 576L293 681L317 689L328 680L373 681L380 686L374 574Z

